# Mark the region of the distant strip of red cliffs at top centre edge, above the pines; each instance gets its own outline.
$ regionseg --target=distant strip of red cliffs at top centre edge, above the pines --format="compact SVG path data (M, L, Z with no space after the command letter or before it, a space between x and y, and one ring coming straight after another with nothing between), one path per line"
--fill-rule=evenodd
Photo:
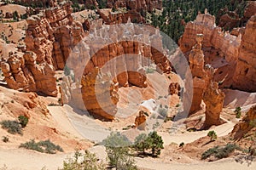
M152 12L154 8L162 8L162 0L108 0L107 6L108 8L136 9L138 12L140 12L141 10L147 10L148 12Z

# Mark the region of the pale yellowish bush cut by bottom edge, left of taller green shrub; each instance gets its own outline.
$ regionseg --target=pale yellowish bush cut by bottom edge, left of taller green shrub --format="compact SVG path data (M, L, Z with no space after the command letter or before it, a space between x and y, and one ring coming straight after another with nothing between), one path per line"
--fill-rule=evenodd
M63 161L63 168L61 170L104 170L105 165L102 162L98 162L98 158L95 154L85 150L82 154L79 151L74 153L73 158Z

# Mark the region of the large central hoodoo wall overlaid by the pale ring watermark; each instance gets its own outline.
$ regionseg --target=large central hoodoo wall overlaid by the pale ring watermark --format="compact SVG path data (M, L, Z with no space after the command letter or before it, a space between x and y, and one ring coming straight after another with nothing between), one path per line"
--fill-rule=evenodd
M98 26L94 26L96 24ZM166 55L160 52L163 48L159 31L143 35L142 28L131 25L131 20L125 26L110 27L96 22L91 23L90 28L94 30L90 30L82 45L73 50L77 53L73 53L67 61L75 77L81 77L82 87L78 85L75 89L72 85L75 82L68 85L70 82L65 81L66 85L62 88L68 92L63 96L68 103L73 102L73 96L78 96L80 89L86 110L96 118L111 121L117 111L119 98L116 92L119 87L147 87L143 66L148 66L150 60L159 65L162 72L171 71L171 66L166 62ZM119 40L124 34L125 39ZM140 38L145 38L145 43ZM158 50L156 47L159 47ZM81 101L74 103L79 108L83 107Z

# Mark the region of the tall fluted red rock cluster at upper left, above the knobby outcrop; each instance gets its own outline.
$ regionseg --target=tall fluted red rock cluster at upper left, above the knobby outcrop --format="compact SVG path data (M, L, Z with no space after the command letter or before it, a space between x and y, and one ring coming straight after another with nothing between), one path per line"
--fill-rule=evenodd
M83 26L73 21L70 3L49 8L27 19L26 50L37 54L37 62L63 69L71 49L83 37Z

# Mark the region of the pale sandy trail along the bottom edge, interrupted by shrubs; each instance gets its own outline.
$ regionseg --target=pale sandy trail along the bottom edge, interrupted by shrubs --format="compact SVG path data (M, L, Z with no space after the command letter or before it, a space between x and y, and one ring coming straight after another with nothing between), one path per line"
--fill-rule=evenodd
M96 152L96 155L103 155L102 147L92 148L91 151ZM67 157L73 156L73 153L49 155L42 154L30 150L3 150L0 149L0 168L4 164L7 165L8 170L41 170L43 167L48 170L57 170L62 167L63 160L67 160ZM104 155L103 157L105 157ZM103 158L101 157L101 158ZM145 160L143 158L135 158L138 167L144 169L155 170L254 170L256 163L252 162L250 167L247 167L246 163L238 163L233 159L225 159L214 162L201 162L201 163L164 163L161 161Z

